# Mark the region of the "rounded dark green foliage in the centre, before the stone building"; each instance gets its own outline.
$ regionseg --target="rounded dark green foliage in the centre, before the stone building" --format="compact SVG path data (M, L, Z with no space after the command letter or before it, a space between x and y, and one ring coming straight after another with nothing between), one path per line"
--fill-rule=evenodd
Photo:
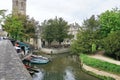
M55 18L45 20L42 23L43 33L42 37L45 39L49 44L53 40L56 40L61 44L65 38L68 38L68 24L62 18Z

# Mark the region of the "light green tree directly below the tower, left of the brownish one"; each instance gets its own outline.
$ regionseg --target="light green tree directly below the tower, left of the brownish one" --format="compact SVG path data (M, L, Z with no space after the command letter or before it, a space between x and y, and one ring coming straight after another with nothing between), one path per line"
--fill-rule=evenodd
M21 38L20 35L22 34L23 26L22 21L19 20L19 16L8 15L4 28L12 38L16 40Z

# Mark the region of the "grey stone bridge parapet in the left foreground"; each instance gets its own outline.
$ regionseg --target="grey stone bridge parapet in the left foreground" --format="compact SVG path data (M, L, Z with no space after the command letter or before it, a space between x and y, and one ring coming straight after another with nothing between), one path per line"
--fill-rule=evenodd
M32 80L9 40L0 41L0 80Z

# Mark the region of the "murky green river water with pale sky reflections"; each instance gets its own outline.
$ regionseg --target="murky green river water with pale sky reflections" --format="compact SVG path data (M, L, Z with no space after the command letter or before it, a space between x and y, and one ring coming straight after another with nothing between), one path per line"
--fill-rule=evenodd
M33 75L33 80L99 80L83 72L74 56L60 54L47 57L52 61L47 64L32 64L40 70Z

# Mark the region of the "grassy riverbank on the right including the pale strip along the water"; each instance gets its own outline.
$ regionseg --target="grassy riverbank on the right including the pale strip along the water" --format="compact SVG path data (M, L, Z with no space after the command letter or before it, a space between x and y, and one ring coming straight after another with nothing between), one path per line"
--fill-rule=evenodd
M83 55L83 54L80 56L80 58L83 62L82 68L84 70L92 72L97 75L112 77L116 80L120 80L120 77L119 77L120 74L119 74L119 70L118 70L118 68L120 66L112 64L112 63L108 63L106 61L94 59L94 58L91 58L91 57L89 57L87 55ZM115 65L115 66L113 66L113 65ZM111 71L109 71L109 70L111 70Z

